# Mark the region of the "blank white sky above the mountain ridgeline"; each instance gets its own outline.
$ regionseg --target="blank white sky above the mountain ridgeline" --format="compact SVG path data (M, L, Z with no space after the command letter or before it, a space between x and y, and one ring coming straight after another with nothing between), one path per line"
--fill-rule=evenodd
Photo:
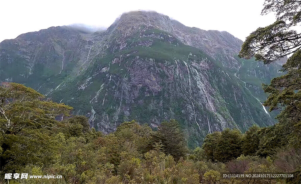
M109 27L123 12L154 10L189 27L228 31L245 40L252 31L275 21L260 15L264 0L4 0L0 9L0 41L22 33L74 23Z

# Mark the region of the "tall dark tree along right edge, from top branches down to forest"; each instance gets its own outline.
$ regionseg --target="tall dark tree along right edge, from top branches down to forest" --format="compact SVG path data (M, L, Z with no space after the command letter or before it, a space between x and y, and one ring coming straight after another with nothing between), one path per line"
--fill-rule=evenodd
M270 12L276 14L275 23L251 33L238 56L246 59L255 56L256 60L269 64L291 55L282 65L285 74L273 78L269 85L262 84L269 94L263 105L269 106L270 111L281 111L276 117L279 125L271 129L275 140L285 140L296 147L301 144L301 33L292 27L300 26L301 1L265 0L262 15Z

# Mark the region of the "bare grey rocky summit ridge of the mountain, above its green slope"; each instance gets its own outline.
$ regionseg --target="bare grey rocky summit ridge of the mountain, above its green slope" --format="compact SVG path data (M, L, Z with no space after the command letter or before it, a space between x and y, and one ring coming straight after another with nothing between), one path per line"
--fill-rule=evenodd
M212 58L221 61L228 68L236 68L237 60L234 55L240 51L243 41L226 31L202 30L196 27L187 27L184 24L170 19L167 15L155 11L130 11L123 13L107 29L109 40L113 44L126 43L130 36L146 30L161 30L185 45L203 50ZM125 47L123 47L125 48ZM121 48L119 48L121 49ZM228 56L220 58L219 52Z

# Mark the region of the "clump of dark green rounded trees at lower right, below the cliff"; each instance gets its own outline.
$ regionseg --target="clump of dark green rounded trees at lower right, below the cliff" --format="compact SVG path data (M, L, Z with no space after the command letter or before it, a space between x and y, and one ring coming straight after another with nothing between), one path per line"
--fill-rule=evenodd
M295 134L293 128L289 122L279 122L263 128L253 125L245 133L229 129L214 132L206 135L202 149L194 150L194 160L209 159L226 163L242 154L278 158L277 154L283 149L300 149L300 135Z

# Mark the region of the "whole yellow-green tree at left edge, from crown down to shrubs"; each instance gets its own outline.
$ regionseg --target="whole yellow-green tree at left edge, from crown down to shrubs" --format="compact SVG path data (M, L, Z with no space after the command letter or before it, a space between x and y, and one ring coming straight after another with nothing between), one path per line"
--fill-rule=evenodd
M51 164L58 129L55 118L68 116L72 107L44 100L35 90L17 83L0 86L0 168L13 172L27 164Z

